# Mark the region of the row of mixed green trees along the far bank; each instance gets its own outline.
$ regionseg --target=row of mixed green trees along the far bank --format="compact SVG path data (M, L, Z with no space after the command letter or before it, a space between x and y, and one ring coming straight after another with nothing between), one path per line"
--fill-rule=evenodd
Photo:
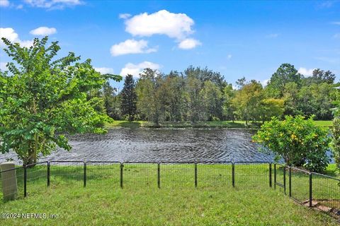
M125 77L117 93L109 83L100 96L103 108L113 119L162 121L267 121L275 116L305 115L330 120L339 84L331 71L315 69L305 77L292 64L282 64L268 85L240 78L237 87L220 72L189 66L169 74L145 69L135 81Z

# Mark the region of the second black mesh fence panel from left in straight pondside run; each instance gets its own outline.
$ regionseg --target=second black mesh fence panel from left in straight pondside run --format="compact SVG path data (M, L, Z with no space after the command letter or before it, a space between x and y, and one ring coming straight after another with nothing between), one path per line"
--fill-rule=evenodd
M120 162L86 162L86 186L120 186Z

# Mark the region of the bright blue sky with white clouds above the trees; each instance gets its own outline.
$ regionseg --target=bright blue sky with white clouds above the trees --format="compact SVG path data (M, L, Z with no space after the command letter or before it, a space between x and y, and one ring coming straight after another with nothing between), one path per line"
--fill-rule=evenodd
M60 56L123 75L193 65L263 82L283 63L340 74L340 1L0 0L0 28L23 45L50 34ZM1 50L1 69L8 60Z

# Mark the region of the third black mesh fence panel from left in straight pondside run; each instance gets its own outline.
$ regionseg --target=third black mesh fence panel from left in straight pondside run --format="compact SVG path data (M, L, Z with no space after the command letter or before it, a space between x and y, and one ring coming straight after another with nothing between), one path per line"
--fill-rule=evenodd
M124 187L157 188L157 162L123 162Z

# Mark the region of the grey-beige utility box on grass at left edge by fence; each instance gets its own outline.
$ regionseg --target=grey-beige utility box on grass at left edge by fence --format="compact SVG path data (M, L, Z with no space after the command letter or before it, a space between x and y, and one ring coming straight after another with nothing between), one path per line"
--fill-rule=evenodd
M18 185L16 184L16 165L14 162L4 162L0 164L1 184L4 201L13 200L18 197ZM13 170L8 170L13 169ZM6 172L2 172L5 171Z

